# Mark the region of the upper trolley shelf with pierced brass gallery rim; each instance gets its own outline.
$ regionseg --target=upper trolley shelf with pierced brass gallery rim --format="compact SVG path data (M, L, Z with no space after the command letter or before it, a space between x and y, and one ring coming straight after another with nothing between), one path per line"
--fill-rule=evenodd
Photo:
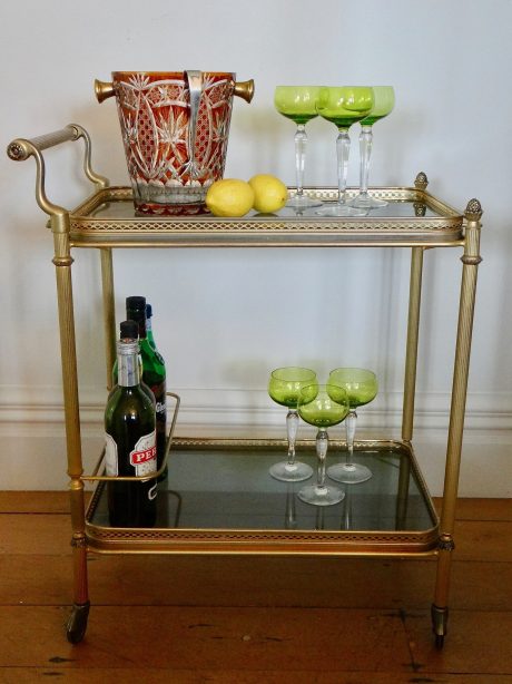
M335 188L307 188L323 202L335 202ZM357 189L349 188L348 197ZM96 193L70 215L73 246L453 246L463 238L463 215L426 190L371 188L388 205L367 216L324 217L315 209L297 215L249 213L242 218L137 216L131 189Z

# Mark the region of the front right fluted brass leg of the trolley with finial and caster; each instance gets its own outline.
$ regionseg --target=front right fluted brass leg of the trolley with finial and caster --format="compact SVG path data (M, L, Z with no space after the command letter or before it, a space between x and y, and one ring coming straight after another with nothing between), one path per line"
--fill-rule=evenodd
M452 405L450 412L449 439L446 447L446 469L444 475L443 510L441 512L437 576L432 623L435 644L442 647L446 635L447 595L452 553L455 548L453 529L455 524L455 505L461 466L462 434L470 368L471 336L473 331L474 301L476 293L477 266L480 256L480 218L482 207L477 199L471 199L465 211L465 246L462 261L461 301L452 385Z

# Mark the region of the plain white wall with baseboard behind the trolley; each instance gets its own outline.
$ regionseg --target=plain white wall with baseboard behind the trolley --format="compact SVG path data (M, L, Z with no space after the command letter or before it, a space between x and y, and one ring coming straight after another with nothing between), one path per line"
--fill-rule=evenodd
M253 77L237 100L226 175L273 173L294 183L293 126L273 109L277 84L391 84L396 108L375 128L371 182L410 185L417 172L455 207L484 208L483 264L461 476L465 496L510 496L512 252L510 205L510 0L18 0L2 3L3 147L79 123L93 164L127 184L115 104L92 81L115 69L226 69ZM335 184L335 129L309 127L307 182ZM353 136L355 143L356 134ZM46 153L49 197L66 206L88 187L81 144ZM357 145L349 183L357 184ZM33 198L33 162L0 157L2 346L0 488L66 486L51 236ZM100 442L105 401L98 255L73 266L87 458ZM461 264L425 255L419 451L442 487ZM282 433L266 397L268 371L305 363L368 365L381 379L362 430L398 434L408 255L398 251L219 250L117 253L118 317L127 294L146 294L183 397L180 433ZM306 277L307 268L307 277ZM207 334L204 331L207 330ZM386 433L390 432L387 430Z

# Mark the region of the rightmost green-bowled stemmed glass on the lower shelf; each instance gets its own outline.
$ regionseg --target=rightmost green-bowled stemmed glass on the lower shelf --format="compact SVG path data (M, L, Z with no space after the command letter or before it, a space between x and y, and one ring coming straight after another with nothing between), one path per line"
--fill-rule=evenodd
M337 368L331 371L328 377L333 398L337 399L338 391L346 393L349 412L345 419L346 430L346 461L331 466L327 475L332 480L356 485L365 482L372 477L372 471L366 466L354 463L354 437L357 423L356 409L373 401L377 394L377 379L375 373L362 368Z

